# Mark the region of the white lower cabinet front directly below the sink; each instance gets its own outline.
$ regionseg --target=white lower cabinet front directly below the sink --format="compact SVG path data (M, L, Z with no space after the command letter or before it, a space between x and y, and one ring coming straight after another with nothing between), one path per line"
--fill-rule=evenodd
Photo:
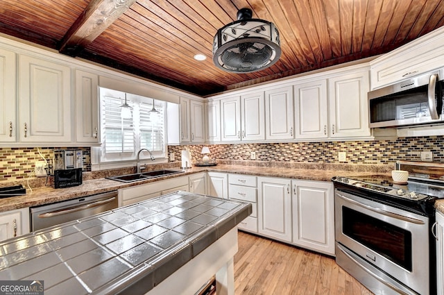
M153 199L162 194L182 190L188 192L188 176L180 176L167 180L135 185L119 189L119 207Z

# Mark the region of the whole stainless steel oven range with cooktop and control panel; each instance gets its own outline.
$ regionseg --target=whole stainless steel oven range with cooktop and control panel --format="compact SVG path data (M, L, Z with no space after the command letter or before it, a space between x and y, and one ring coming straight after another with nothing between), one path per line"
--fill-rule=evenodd
M434 201L444 198L444 165L397 165L416 179L332 179L336 263L375 294L436 294L432 225Z

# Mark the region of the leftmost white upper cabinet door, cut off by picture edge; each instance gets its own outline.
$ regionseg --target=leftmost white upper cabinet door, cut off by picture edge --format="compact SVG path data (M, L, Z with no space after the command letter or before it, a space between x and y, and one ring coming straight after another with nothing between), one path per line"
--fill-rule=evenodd
M0 49L0 142L17 141L15 53Z

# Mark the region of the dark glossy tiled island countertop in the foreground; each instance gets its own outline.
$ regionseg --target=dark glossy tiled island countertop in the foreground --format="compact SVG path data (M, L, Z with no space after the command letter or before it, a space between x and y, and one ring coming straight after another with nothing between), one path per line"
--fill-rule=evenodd
M251 212L247 203L167 194L0 243L0 280L44 280L45 295L130 285L145 293Z

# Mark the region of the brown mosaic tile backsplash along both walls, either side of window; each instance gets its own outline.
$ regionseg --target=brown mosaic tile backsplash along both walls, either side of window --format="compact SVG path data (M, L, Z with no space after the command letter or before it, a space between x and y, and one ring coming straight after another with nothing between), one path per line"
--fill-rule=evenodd
M180 166L180 154L185 147L191 151L192 162L202 158L204 145L168 146L168 154L175 154ZM206 144L210 158L217 160L250 160L250 152L256 153L255 161L347 163L359 165L392 165L397 160L420 160L421 151L432 151L434 162L444 163L444 136L402 137L397 140L355 142L291 142L264 144ZM0 181L24 179L31 176L35 162L52 158L54 148L0 148ZM65 148L66 149L66 148ZM78 148L69 148L78 149ZM91 171L91 151L83 150L83 171ZM346 161L339 162L338 152L346 153Z

